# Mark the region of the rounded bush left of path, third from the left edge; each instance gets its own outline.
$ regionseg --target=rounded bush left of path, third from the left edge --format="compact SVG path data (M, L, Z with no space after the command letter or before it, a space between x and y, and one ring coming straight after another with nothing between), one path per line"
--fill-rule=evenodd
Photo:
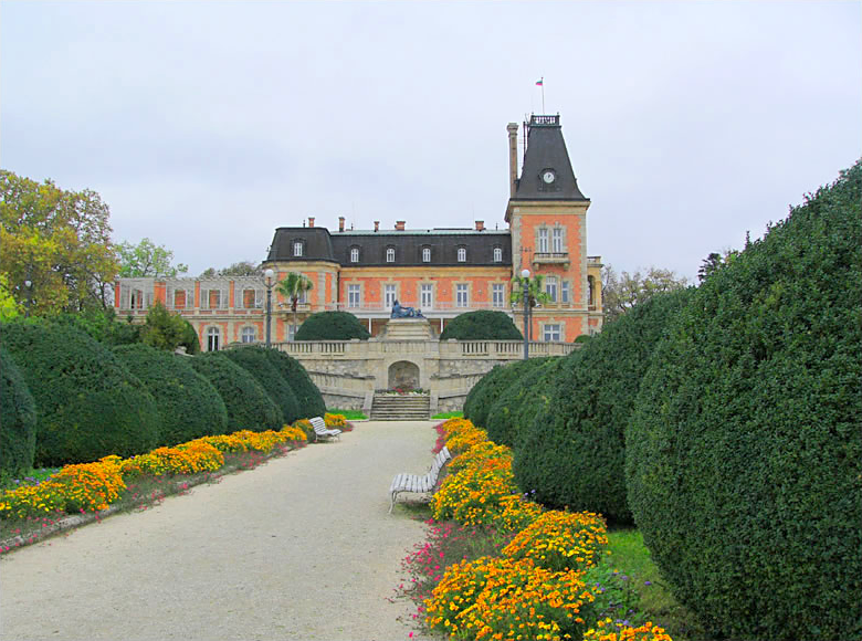
M188 356L143 344L122 345L113 351L156 399L161 417L160 445L225 433L224 401L212 383L192 369Z

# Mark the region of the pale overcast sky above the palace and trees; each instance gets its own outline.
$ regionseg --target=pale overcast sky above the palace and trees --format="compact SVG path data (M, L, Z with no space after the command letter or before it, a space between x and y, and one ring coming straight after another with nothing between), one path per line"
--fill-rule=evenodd
M197 275L277 227L505 229L559 113L588 253L695 279L862 156L862 2L0 3L0 165Z

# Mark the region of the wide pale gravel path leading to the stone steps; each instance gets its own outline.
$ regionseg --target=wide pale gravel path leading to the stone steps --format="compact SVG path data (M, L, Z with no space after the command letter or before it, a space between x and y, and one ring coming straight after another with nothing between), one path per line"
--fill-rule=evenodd
M9 554L0 638L407 640L412 603L389 599L424 529L387 514L387 490L431 464L433 424L357 423L340 442Z

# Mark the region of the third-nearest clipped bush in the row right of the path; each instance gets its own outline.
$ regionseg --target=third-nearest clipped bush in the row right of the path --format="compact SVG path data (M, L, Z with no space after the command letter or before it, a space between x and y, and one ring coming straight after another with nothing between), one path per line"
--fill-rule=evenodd
M515 450L536 414L556 401L551 393L556 387L555 378L567 359L549 356L530 358L529 362L533 367L500 395L485 421L488 439Z

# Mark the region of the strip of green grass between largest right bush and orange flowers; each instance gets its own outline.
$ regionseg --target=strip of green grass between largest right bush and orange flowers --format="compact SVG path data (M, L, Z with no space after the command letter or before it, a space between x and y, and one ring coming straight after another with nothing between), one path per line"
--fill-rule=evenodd
M664 628L674 641L706 641L708 637L694 616L671 595L641 533L616 528L608 532L608 539L609 563L634 580L641 595L640 609L646 618Z

